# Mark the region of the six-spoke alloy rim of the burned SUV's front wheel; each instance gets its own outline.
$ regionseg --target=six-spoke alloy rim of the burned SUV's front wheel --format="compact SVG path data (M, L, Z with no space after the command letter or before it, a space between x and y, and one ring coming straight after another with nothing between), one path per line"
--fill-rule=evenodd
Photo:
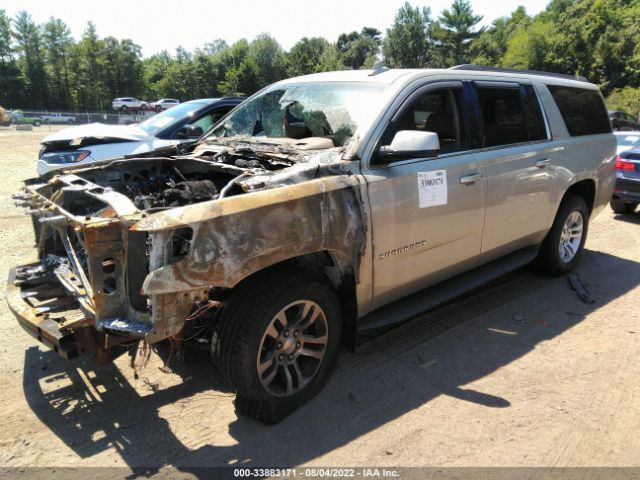
M311 300L298 300L282 308L260 341L258 378L271 395L293 395L314 377L329 341L327 318Z

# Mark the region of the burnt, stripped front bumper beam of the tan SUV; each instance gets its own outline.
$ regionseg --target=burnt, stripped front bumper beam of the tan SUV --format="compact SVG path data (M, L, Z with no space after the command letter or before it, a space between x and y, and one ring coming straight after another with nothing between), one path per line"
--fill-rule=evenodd
M72 360L100 348L100 335L78 302L64 291L55 277L21 281L16 267L9 272L6 298L20 326L32 337Z

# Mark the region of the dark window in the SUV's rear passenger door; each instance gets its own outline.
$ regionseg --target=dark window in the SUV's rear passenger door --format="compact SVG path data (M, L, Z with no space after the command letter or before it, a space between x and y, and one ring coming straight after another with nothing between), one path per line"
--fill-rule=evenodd
M497 147L547 138L540 104L530 85L476 85L483 121L483 146Z

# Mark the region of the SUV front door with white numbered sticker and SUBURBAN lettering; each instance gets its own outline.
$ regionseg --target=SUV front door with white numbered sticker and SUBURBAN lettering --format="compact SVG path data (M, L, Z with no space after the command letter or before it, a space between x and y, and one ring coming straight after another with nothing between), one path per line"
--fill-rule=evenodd
M438 134L434 157L362 164L370 203L377 308L453 276L480 254L485 167L470 152L467 94L458 81L418 86L391 119L377 151L400 130Z

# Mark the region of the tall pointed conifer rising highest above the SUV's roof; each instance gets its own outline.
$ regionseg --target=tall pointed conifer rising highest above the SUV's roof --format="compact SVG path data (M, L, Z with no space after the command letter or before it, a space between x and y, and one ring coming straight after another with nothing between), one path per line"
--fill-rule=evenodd
M469 0L453 0L435 26L434 37L439 43L442 66L460 65L470 60L469 45L483 32L476 30L482 15L475 15Z

